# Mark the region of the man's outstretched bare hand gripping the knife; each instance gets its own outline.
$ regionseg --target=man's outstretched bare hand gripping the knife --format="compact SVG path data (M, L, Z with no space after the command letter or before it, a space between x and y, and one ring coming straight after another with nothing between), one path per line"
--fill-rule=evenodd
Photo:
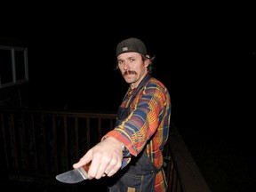
M91 162L88 176L90 179L100 179L114 175L121 167L123 160L122 144L112 137L102 140L89 149L73 168L78 168Z

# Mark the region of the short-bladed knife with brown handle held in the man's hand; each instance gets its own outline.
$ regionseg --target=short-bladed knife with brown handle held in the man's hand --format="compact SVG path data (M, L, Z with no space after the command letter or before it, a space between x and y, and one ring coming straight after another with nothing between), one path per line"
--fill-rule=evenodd
M87 180L89 178L87 172L89 170L90 164L84 164L84 166L79 167L77 169L70 170L68 172L60 173L56 176L56 180L60 182L74 184L81 182L83 180Z

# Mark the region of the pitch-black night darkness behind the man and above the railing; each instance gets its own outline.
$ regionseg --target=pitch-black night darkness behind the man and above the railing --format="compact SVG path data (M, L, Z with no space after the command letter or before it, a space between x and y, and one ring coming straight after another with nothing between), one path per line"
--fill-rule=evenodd
M160 14L151 7L138 10L141 17L129 9L35 10L28 18L2 19L0 37L28 45L29 83L20 85L28 107L111 112L127 89L114 70L116 44L139 37L156 55L153 76L168 87L172 121L205 178L228 191L251 191L255 14L239 6L207 7L172 7Z

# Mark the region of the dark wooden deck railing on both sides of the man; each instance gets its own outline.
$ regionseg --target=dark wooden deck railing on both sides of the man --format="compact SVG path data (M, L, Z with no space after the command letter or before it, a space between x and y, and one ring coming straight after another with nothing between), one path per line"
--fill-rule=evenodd
M51 182L113 129L116 114L1 110L1 146L8 180ZM164 148L169 192L208 192L174 124ZM189 164L188 164L189 163Z

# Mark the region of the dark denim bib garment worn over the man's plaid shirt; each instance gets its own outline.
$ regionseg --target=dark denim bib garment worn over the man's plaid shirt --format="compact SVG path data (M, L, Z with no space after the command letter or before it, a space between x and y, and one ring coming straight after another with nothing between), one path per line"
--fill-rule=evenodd
M140 82L136 92L132 95L132 100L136 97L136 94L140 89L148 82L151 76L146 76L142 82ZM126 116L131 113L130 107L119 107L116 125L120 124ZM157 170L156 166L148 158L146 151L141 151L139 156L132 156L131 162L124 167L124 169L116 172L111 177L111 186L108 186L109 192L154 192L155 191L155 179L156 173L161 171Z

